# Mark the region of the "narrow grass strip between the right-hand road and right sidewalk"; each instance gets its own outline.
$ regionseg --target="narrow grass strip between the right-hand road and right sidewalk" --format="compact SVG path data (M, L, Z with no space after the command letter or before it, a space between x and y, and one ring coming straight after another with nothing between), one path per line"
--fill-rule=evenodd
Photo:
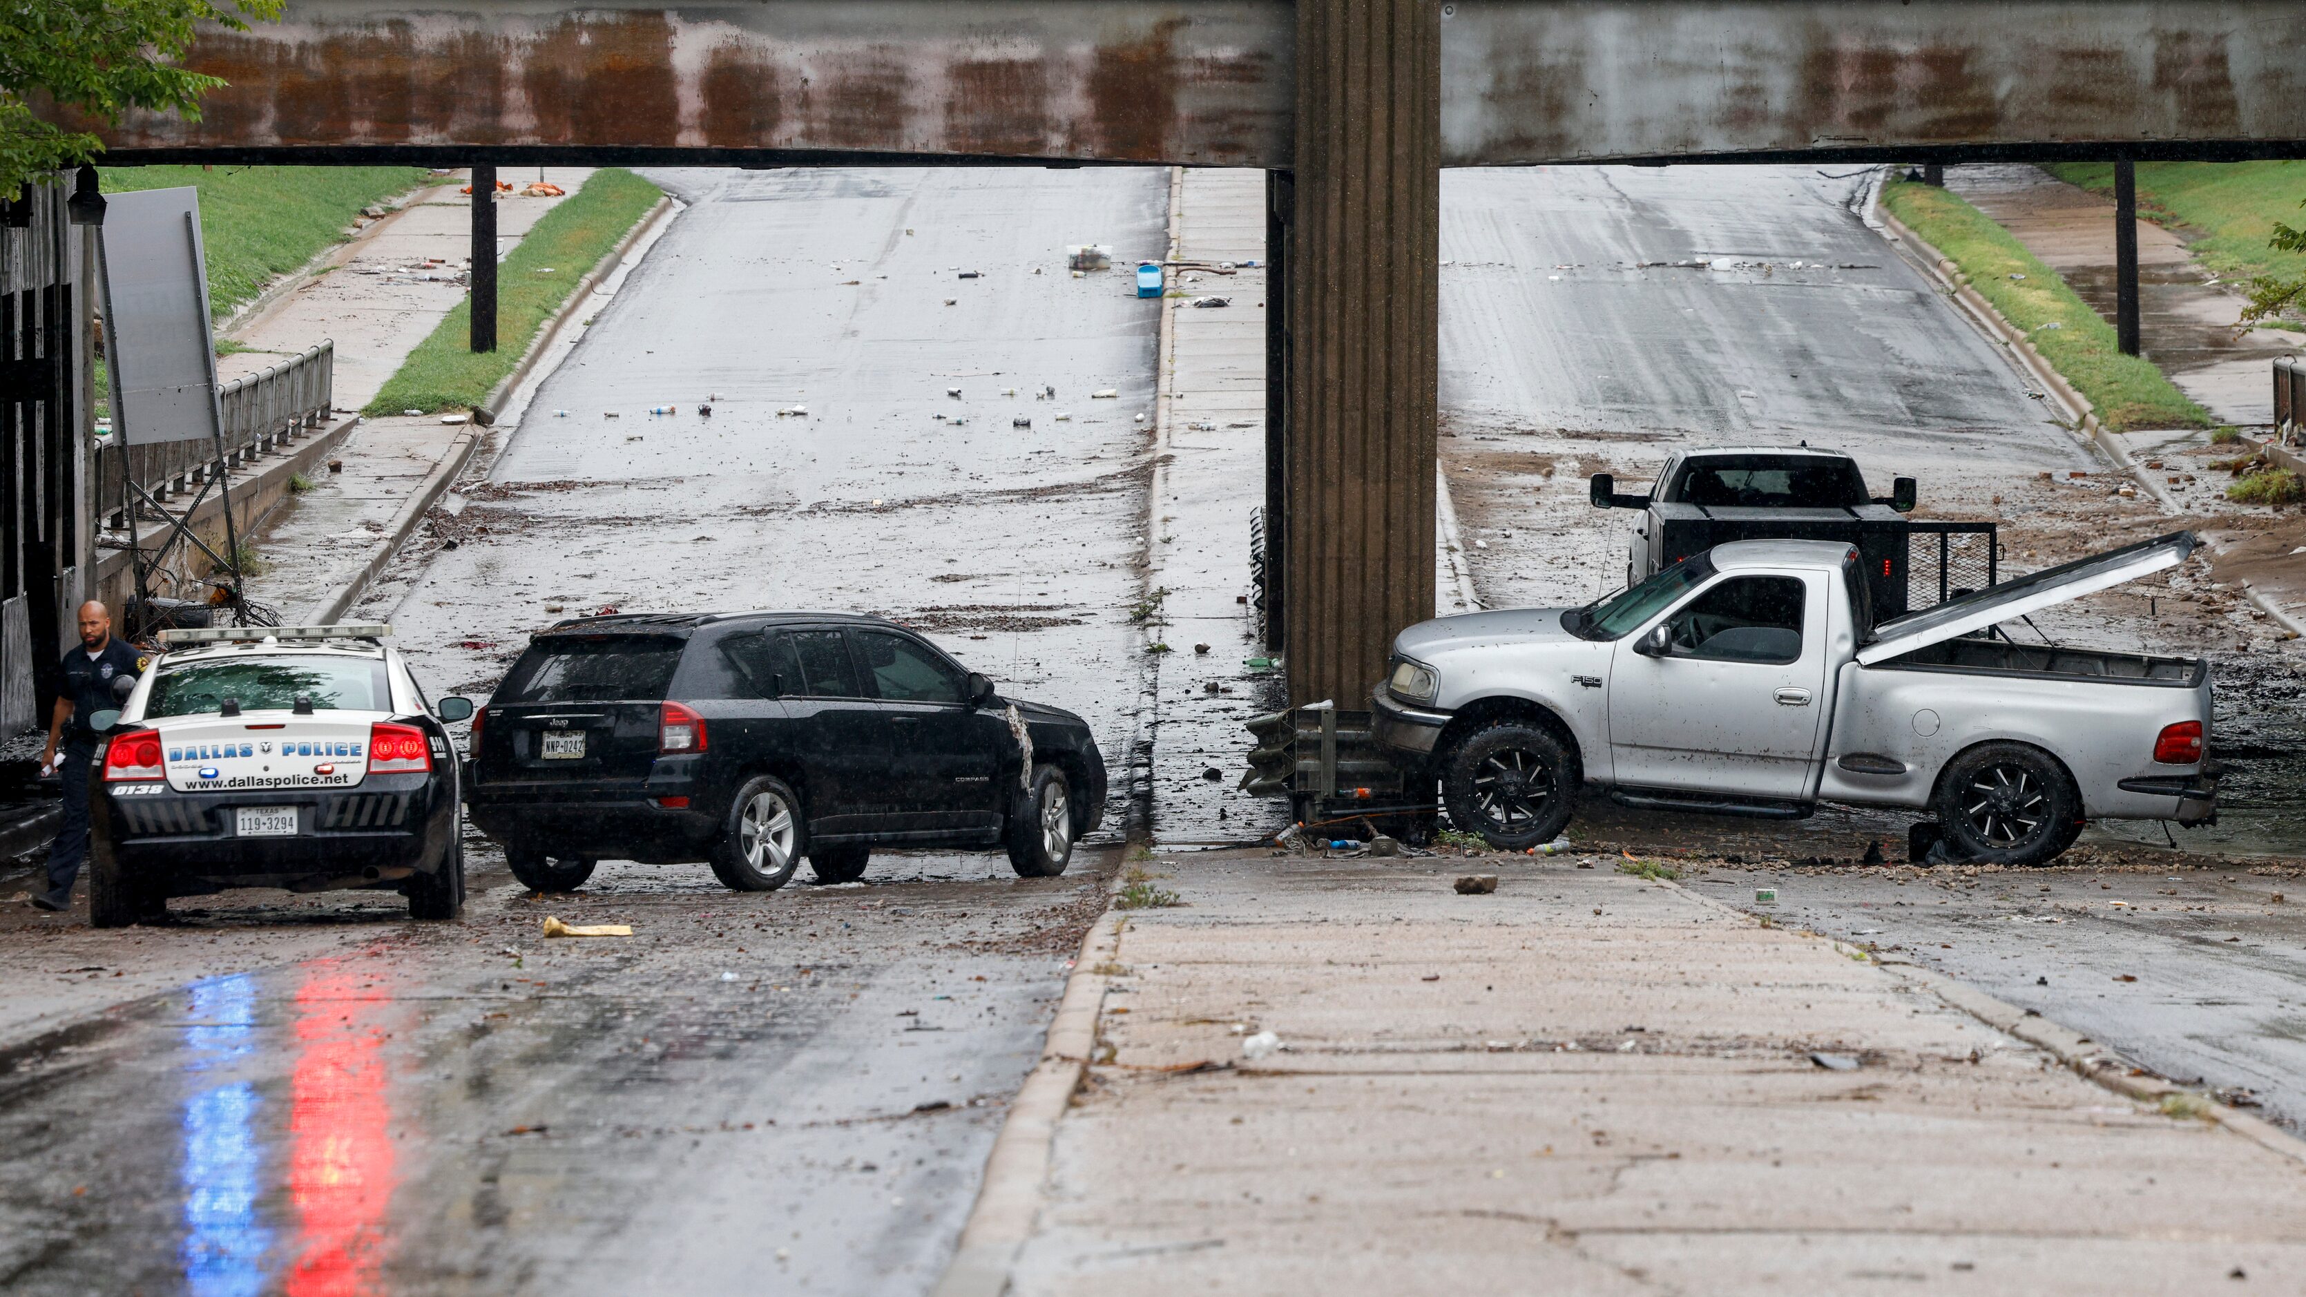
M2122 432L2216 422L2163 378L2154 362L2122 355L2115 325L1958 194L1898 180L1882 189L1882 205L1960 265L1969 286L2034 342L2105 427Z

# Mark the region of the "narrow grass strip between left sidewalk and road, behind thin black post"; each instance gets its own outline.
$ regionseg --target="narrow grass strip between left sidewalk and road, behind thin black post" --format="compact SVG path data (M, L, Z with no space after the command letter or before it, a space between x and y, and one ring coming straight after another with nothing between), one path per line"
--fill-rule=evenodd
M595 171L583 189L528 231L496 268L496 351L473 353L473 298L440 321L362 413L473 408L521 362L544 321L664 192L620 168Z

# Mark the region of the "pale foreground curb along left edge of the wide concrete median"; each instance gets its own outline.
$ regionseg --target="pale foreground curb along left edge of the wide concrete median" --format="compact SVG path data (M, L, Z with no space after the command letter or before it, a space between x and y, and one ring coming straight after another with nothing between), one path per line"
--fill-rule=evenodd
M1114 870L1114 882L1118 879L1121 870ZM1010 1265L1024 1242L1033 1237L1033 1223L1040 1219L1040 1186L1049 1177L1056 1124L1072 1103L1075 1089L1082 1087L1082 1073L1088 1071L1088 1057L1098 1048L1105 974L1095 969L1118 953L1123 923L1121 914L1105 914L1082 937L1082 953L1072 960L1065 999L1058 1002L1056 1020L1049 1022L1049 1041L1040 1050L1040 1064L1010 1101L1008 1119L994 1135L994 1152L985 1159L985 1184L978 1189L978 1202L969 1209L959 1246L929 1297L1001 1297L1008 1292Z

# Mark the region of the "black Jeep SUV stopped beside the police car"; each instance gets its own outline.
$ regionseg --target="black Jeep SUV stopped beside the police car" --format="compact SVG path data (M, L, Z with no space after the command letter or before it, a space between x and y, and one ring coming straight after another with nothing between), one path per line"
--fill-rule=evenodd
M473 715L466 801L537 891L604 856L710 861L738 891L807 856L851 882L874 845L1008 847L1049 877L1105 815L1105 757L1079 715L876 616L588 616L530 639Z

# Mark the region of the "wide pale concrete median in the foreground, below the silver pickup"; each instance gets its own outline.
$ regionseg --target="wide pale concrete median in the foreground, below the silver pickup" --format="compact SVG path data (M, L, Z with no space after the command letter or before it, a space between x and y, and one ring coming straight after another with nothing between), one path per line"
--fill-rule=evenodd
M1455 895L1474 870L1499 891ZM1165 872L1185 907L1100 969L1012 1292L2306 1285L2285 1135L2165 1117L1610 861Z

